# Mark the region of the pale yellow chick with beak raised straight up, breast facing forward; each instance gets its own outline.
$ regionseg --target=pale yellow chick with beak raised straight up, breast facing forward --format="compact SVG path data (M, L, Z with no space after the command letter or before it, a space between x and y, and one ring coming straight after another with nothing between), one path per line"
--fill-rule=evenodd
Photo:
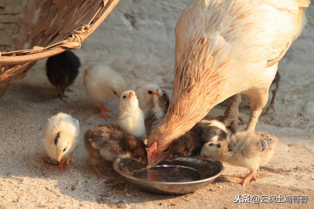
M143 111L138 107L134 91L125 91L120 96L120 115L114 125L140 140L145 139Z

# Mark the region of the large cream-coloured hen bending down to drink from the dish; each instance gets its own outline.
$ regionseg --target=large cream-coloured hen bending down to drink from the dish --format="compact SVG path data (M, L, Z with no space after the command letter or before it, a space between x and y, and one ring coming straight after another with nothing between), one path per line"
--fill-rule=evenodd
M307 0L194 0L175 29L173 95L152 131L148 167L168 157L171 141L237 93L249 97L247 130L268 100L278 61L306 24ZM157 144L157 145L156 145Z

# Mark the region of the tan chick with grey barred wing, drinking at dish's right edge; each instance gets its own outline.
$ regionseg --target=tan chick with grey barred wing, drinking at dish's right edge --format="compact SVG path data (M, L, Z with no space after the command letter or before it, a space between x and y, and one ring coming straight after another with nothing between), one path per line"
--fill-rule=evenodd
M276 143L275 136L264 132L237 132L226 140L204 144L200 159L249 169L250 173L241 181L244 186L251 178L257 180L255 171L271 159Z

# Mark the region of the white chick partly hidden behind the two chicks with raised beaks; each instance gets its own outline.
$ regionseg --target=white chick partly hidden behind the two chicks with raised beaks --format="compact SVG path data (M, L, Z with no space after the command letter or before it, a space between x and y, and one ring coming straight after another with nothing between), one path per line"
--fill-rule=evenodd
M144 114L144 120L149 116L151 110L150 101L153 98L153 90L160 90L160 86L154 83L147 83L139 87L137 91L138 106Z

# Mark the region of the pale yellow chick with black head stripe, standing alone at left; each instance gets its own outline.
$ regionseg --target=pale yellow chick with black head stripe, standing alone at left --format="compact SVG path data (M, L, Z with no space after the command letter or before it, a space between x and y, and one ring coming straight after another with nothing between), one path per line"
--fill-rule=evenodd
M51 118L45 125L44 138L42 144L51 159L58 160L60 164L53 168L60 168L62 173L63 168L69 168L64 165L67 161L69 164L70 159L74 163L72 153L82 142L79 135L78 120L72 118L65 113L58 113Z

